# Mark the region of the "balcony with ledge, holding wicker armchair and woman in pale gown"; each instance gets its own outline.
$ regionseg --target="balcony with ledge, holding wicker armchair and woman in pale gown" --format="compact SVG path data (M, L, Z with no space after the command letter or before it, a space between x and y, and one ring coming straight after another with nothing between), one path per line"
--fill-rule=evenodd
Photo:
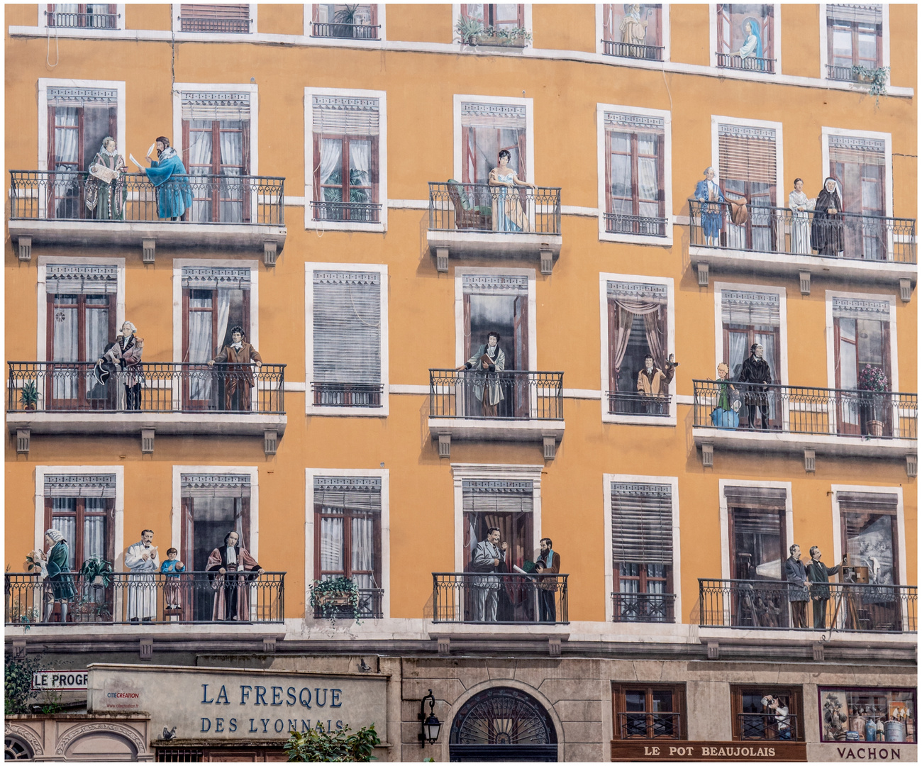
M439 271L449 257L537 257L550 274L561 254L561 190L430 182L426 240Z

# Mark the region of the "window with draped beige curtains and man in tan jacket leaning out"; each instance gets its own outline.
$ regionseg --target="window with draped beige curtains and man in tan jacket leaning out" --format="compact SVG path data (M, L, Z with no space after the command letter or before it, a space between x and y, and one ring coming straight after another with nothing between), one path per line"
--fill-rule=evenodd
M609 280L609 414L670 415L668 286ZM652 378L644 372L653 357ZM646 376L645 381L641 375ZM645 385L644 385L645 383Z

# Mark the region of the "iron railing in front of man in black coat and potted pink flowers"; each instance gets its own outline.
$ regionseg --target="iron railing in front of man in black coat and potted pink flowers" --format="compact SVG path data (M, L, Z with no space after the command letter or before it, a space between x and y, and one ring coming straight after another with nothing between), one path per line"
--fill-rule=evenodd
M692 383L696 428L916 439L916 394L730 382L740 402L734 413L717 407L724 384Z

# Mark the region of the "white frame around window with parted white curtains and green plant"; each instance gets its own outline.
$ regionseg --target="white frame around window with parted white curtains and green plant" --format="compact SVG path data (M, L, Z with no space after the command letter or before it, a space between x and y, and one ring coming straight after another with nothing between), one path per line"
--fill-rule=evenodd
M314 38L326 41L327 38ZM378 100L378 204L379 223L330 221L313 218L313 100L312 96L343 96ZM348 88L304 88L304 229L316 231L387 231L387 91Z

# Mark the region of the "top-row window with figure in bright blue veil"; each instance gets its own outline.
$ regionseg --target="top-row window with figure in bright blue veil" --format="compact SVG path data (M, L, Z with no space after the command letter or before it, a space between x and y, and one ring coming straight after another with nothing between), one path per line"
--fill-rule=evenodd
M774 6L717 4L717 66L774 72Z

